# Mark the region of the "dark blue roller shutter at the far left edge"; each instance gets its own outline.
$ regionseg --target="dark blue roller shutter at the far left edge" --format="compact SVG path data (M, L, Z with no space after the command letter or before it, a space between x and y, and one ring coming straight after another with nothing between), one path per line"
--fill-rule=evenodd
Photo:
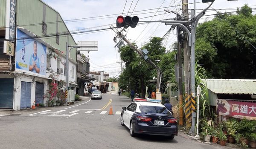
M13 78L0 79L0 108L13 109Z

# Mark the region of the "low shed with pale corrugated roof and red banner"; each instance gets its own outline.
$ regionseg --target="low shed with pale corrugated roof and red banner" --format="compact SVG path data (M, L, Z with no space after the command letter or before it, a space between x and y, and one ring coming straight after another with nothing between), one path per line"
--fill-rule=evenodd
M234 117L256 120L256 80L206 79L209 103L220 120Z

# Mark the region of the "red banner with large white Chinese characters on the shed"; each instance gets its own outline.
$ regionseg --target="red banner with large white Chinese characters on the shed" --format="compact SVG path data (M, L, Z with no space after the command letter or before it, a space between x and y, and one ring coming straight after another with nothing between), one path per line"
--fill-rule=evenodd
M227 117L256 120L256 103L217 99L217 114Z

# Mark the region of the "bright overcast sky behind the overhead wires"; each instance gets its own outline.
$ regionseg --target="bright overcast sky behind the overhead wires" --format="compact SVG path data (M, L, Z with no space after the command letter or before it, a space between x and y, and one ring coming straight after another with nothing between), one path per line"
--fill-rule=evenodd
M162 20L167 18L174 18L175 14L169 14L163 11L163 9L176 11L181 14L180 8L181 0L43 0L53 9L58 11L63 20L67 21L66 25L70 32L88 31L93 29L108 28L109 24L116 23L116 17L118 15L126 16L137 15L140 20ZM127 1L127 3L126 3ZM133 2L133 3L132 3ZM138 2L138 3L137 3ZM196 0L196 12L200 12L205 7L209 6L207 3L200 3L201 0ZM126 5L125 5L126 3ZM188 0L188 3L194 3L194 0ZM256 0L215 0L212 8L216 11L236 11L237 7L244 6L247 3L251 8L256 8ZM137 4L137 5L136 5ZM136 7L135 7L136 6ZM176 6L176 7L175 7ZM163 8L168 7L168 8ZM216 14L216 11L209 9L205 16L201 18L200 22L211 20L210 14ZM148 10L151 9L151 10ZM194 9L194 4L189 4L189 9ZM225 10L218 10L225 9ZM145 11L148 10L148 11ZM255 12L253 12L255 14ZM115 15L111 15L115 14ZM107 15L107 16L106 16ZM105 17L98 17L105 16ZM88 18L91 17L91 18ZM87 19L82 19L87 18ZM145 42L148 42L150 37L163 37L169 30L170 26L164 25L164 23L150 23L138 25L136 28L127 29L127 38L131 41L135 41L137 46L141 47ZM110 74L111 77L119 76L121 73L120 54L118 49L114 48L113 37L115 32L112 30L104 32L94 32L90 34L74 34L73 37L76 40L96 40L99 42L98 51L92 51L89 53L90 58L90 71L105 71ZM176 30L171 32L165 40L163 40L166 49L170 49L176 41Z

